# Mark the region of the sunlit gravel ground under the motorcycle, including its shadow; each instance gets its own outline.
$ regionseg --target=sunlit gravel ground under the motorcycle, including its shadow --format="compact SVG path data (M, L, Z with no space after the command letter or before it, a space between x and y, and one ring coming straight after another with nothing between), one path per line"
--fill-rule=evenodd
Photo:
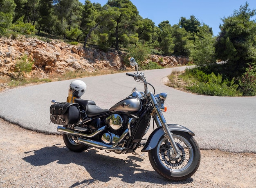
M140 150L137 150L141 153ZM201 150L198 171L172 182L151 167L148 154L69 151L62 136L22 129L0 119L0 187L255 188L256 153Z

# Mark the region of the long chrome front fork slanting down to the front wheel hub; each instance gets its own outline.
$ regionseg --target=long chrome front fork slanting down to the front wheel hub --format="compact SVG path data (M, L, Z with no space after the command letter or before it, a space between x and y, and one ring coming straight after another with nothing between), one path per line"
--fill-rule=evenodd
M171 142L171 146L173 147L174 155L180 155L180 150L177 148L177 145L176 145L175 141L173 140L173 135L172 135L173 133L171 133L171 131L168 129L168 125L166 123L164 115L163 115L162 111L159 110L159 106L158 106L157 101L155 100L154 95L151 92L148 93L148 95L150 97L150 100L152 101L153 108L154 108L155 113L156 113L156 115L153 116L153 118L154 118L154 120L157 124L157 127L163 127L164 132L166 133L168 139Z

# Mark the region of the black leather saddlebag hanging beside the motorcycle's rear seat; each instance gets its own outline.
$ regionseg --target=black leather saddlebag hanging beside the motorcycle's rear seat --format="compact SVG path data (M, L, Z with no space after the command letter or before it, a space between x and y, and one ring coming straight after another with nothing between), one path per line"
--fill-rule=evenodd
M58 103L50 107L51 122L57 125L77 124L80 110L77 103Z

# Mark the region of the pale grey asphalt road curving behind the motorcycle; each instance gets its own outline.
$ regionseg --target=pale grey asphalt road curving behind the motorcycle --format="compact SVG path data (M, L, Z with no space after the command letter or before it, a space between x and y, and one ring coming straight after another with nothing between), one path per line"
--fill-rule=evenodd
M201 149L256 153L256 97L202 96L181 92L162 83L171 74L168 68L144 71L156 93L167 92L165 118L195 133ZM90 99L108 109L126 98L134 87L144 91L143 83L125 73L81 78L87 84L83 99ZM50 123L52 99L65 102L73 80L44 83L5 90L0 93L0 118L45 133L57 133Z

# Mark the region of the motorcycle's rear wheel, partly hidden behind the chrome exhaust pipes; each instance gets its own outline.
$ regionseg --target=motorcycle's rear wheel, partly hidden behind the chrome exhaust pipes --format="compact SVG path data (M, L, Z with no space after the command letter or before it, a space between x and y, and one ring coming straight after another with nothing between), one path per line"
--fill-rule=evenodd
M66 127L72 129L73 125L67 125ZM63 134L63 140L68 149L74 152L82 152L89 148L89 146L85 146L84 144L80 144L77 142L77 136L71 136Z

